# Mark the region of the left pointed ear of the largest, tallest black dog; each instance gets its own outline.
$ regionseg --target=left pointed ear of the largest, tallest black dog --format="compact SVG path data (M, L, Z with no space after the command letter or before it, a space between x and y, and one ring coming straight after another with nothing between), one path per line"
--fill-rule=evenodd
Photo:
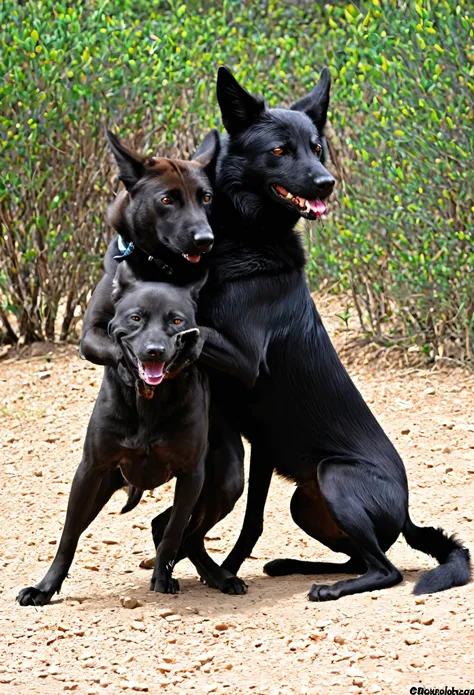
M246 130L265 111L263 99L249 94L225 67L220 67L217 73L217 101L229 135Z

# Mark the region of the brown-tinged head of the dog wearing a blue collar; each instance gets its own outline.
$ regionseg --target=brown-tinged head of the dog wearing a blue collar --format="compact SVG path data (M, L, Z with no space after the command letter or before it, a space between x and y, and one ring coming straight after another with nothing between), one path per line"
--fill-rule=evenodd
M109 209L111 225L150 256L160 257L164 247L197 263L214 242L208 175L215 167L217 134L209 134L191 162L138 154L111 131L107 138L125 185Z

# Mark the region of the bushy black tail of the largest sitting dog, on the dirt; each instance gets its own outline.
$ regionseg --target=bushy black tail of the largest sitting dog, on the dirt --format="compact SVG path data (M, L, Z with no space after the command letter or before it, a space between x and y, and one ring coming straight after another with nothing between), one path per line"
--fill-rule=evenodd
M416 526L409 516L402 531L408 545L431 555L440 565L423 572L413 589L414 594L433 594L471 581L469 550L456 536L448 536L441 528Z

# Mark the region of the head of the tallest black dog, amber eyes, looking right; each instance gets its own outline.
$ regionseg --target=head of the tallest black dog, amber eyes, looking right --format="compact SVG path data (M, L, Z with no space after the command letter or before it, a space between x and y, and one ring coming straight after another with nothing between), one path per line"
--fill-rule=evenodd
M219 68L217 99L229 134L219 185L237 205L245 197L252 204L253 197L273 213L284 214L285 208L294 220L326 211L335 183L324 165L330 83L325 68L310 94L289 109L269 109L228 68Z

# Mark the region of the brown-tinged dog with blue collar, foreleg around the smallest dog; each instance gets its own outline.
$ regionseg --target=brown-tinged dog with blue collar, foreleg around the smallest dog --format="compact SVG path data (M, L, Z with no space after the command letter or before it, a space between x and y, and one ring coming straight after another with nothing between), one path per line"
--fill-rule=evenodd
M218 138L210 137L193 162L140 155L110 131L108 140L125 185L109 210L118 237L107 249L104 275L88 304L81 356L117 366L120 349L107 333L113 317L112 282L126 258L140 280L186 284L203 277L199 261L214 243L209 225Z

